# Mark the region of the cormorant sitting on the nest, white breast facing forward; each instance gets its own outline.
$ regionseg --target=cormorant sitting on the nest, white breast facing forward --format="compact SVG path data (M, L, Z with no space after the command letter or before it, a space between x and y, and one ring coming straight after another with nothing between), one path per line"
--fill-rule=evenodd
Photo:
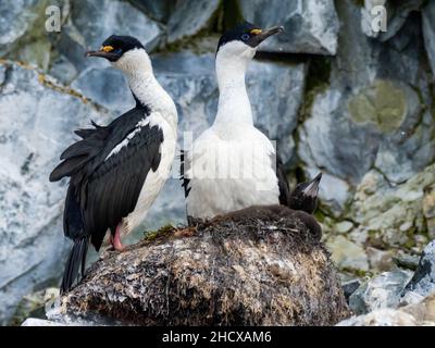
M243 23L220 39L215 69L220 90L214 123L182 153L182 176L190 220L210 219L251 206L286 204L289 190L276 171L271 140L253 126L245 85L258 46L283 32ZM284 179L284 182L283 182Z

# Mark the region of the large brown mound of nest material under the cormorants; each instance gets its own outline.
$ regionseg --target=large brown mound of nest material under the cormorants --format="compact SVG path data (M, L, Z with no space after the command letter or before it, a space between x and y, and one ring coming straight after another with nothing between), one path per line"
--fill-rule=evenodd
M105 252L62 301L140 325L333 325L349 311L309 224L274 206L166 229Z

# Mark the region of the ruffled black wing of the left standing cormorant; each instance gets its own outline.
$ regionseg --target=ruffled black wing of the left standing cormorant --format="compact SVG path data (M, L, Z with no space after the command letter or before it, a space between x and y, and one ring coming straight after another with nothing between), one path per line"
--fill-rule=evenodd
M67 237L90 236L98 250L107 229L114 231L136 207L149 171L159 166L163 142L158 126L137 126L148 113L135 108L107 127L77 130L83 140L62 153L63 162L50 181L71 177L64 212ZM111 154L124 140L124 146Z

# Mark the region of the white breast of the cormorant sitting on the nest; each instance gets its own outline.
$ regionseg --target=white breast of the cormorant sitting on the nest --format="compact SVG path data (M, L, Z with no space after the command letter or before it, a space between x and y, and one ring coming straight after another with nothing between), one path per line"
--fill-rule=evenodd
M225 134L220 130L214 126L206 130L186 156L188 215L206 219L254 204L277 204L271 141L246 124L233 124Z

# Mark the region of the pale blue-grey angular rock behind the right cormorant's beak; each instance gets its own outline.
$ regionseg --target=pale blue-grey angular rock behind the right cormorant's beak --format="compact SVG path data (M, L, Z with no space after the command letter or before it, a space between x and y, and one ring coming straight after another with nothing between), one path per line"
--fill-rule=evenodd
M264 28L285 28L263 42L261 50L332 55L337 51L339 22L333 0L284 0L278 11L268 0L240 0L239 5L245 20Z

